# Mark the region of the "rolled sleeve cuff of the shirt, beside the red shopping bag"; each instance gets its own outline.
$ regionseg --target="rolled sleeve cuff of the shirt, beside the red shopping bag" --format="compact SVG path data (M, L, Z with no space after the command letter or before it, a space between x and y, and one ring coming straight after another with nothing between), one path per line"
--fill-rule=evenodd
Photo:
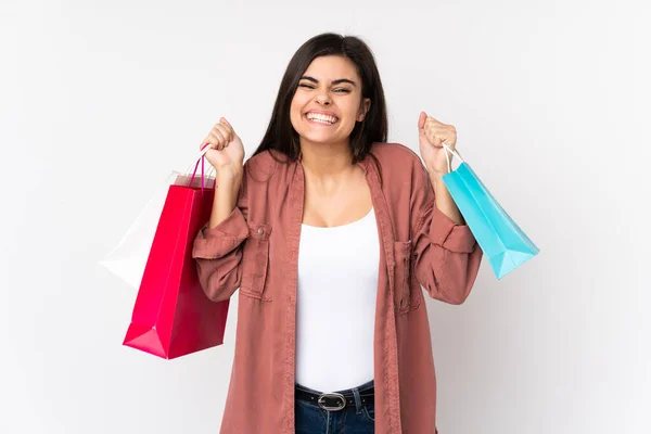
M215 228L204 225L194 239L193 258L217 259L232 252L248 238L248 225L239 207Z

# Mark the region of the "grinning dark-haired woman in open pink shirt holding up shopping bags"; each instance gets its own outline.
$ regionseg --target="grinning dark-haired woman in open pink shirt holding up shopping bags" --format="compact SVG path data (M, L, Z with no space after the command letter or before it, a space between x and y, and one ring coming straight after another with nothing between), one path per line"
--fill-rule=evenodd
M202 142L218 188L193 256L212 299L240 288L221 433L436 431L420 285L462 303L482 253L441 180L455 128L418 128L424 167L385 143L369 48L324 34L290 61L245 164L225 118Z

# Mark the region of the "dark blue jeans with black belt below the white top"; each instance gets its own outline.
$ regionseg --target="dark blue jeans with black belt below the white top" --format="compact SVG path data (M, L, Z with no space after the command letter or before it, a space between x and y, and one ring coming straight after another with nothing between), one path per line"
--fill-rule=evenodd
M373 387L373 381L360 386L337 391L342 395L355 395L355 407L344 407L339 411L323 410L317 404L296 399L296 434L372 434L375 432L375 405L362 405L359 393ZM296 388L319 393L296 384Z

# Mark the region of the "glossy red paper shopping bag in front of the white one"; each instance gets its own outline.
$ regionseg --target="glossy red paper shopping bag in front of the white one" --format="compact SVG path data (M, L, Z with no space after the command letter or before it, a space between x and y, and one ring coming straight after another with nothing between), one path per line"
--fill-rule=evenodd
M214 194L203 182L169 186L123 345L173 359L224 343L229 301L206 296L192 258Z

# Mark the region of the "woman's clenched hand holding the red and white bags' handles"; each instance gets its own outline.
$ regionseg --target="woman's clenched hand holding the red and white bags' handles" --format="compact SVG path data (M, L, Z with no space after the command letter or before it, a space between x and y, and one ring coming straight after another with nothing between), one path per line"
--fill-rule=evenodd
M210 143L210 149L205 155L206 159L215 167L218 176L222 173L238 174L242 171L244 146L226 118L219 119L219 123L201 142L200 149L203 149L206 143Z

